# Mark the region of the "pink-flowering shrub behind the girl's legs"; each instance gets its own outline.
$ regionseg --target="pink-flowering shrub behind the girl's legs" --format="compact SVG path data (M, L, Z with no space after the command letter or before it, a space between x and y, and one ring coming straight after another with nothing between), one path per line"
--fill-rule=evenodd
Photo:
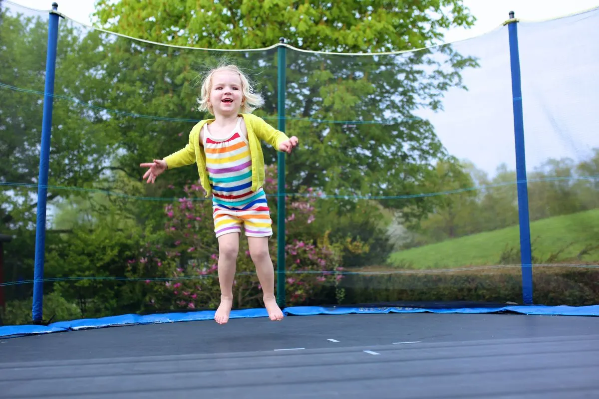
M313 222L317 195L307 188L299 196L286 197L286 273L277 276L276 167L266 169L264 190L273 220L270 253L275 279L286 279L286 305L294 306L320 296L320 290L337 285L343 245L331 243ZM147 244L140 257L129 260L132 275L153 276L146 285L150 306L166 309L215 309L220 301L217 272L218 242L214 237L212 199L199 184L184 188L186 196L164 208L166 240ZM242 229L243 232L243 229ZM234 307L262 306L262 287L242 233L233 287ZM156 278L158 277L158 279Z

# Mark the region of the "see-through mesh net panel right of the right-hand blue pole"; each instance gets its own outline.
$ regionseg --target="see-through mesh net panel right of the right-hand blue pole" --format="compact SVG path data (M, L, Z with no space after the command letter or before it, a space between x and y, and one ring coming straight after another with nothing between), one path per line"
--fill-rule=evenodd
M599 10L521 23L522 102L535 297L597 303Z

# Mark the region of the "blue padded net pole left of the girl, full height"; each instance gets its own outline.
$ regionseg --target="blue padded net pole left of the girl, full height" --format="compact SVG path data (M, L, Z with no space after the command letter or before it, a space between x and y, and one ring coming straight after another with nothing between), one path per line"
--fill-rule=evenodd
M41 127L40 175L38 178L37 221L35 228L34 298L32 319L34 324L43 322L44 255L46 249L46 196L50 162L50 131L54 100L56 48L58 47L58 4L52 3L48 26L46 54L46 86L44 87L44 114Z

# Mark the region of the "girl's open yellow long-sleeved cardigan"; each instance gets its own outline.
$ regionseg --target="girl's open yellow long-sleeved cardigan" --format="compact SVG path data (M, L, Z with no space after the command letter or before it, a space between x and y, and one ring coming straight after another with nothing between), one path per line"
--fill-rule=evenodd
M279 151L279 144L285 140L289 140L285 133L280 132L270 124L266 123L262 118L252 114L239 114L243 116L246 123L247 138L250 143L250 154L252 156L252 190L256 191L264 184L264 153L260 139L272 145L275 150ZM168 169L174 167L187 166L195 162L198 165L199 181L202 188L206 191L206 196L212 193L212 187L208 180L208 171L206 170L206 154L204 146L200 145L199 132L204 127L204 124L213 122L214 119L205 119L199 121L193 126L189 133L189 142L184 148L176 153L164 157Z

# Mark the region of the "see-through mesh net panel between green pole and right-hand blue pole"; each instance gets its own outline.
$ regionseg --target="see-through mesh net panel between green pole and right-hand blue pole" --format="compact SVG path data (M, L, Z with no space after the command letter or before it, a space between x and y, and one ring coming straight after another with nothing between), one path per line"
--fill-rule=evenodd
M322 301L521 301L507 31L401 54L288 54L287 126L306 150L288 185L319 193L313 234L340 251Z

